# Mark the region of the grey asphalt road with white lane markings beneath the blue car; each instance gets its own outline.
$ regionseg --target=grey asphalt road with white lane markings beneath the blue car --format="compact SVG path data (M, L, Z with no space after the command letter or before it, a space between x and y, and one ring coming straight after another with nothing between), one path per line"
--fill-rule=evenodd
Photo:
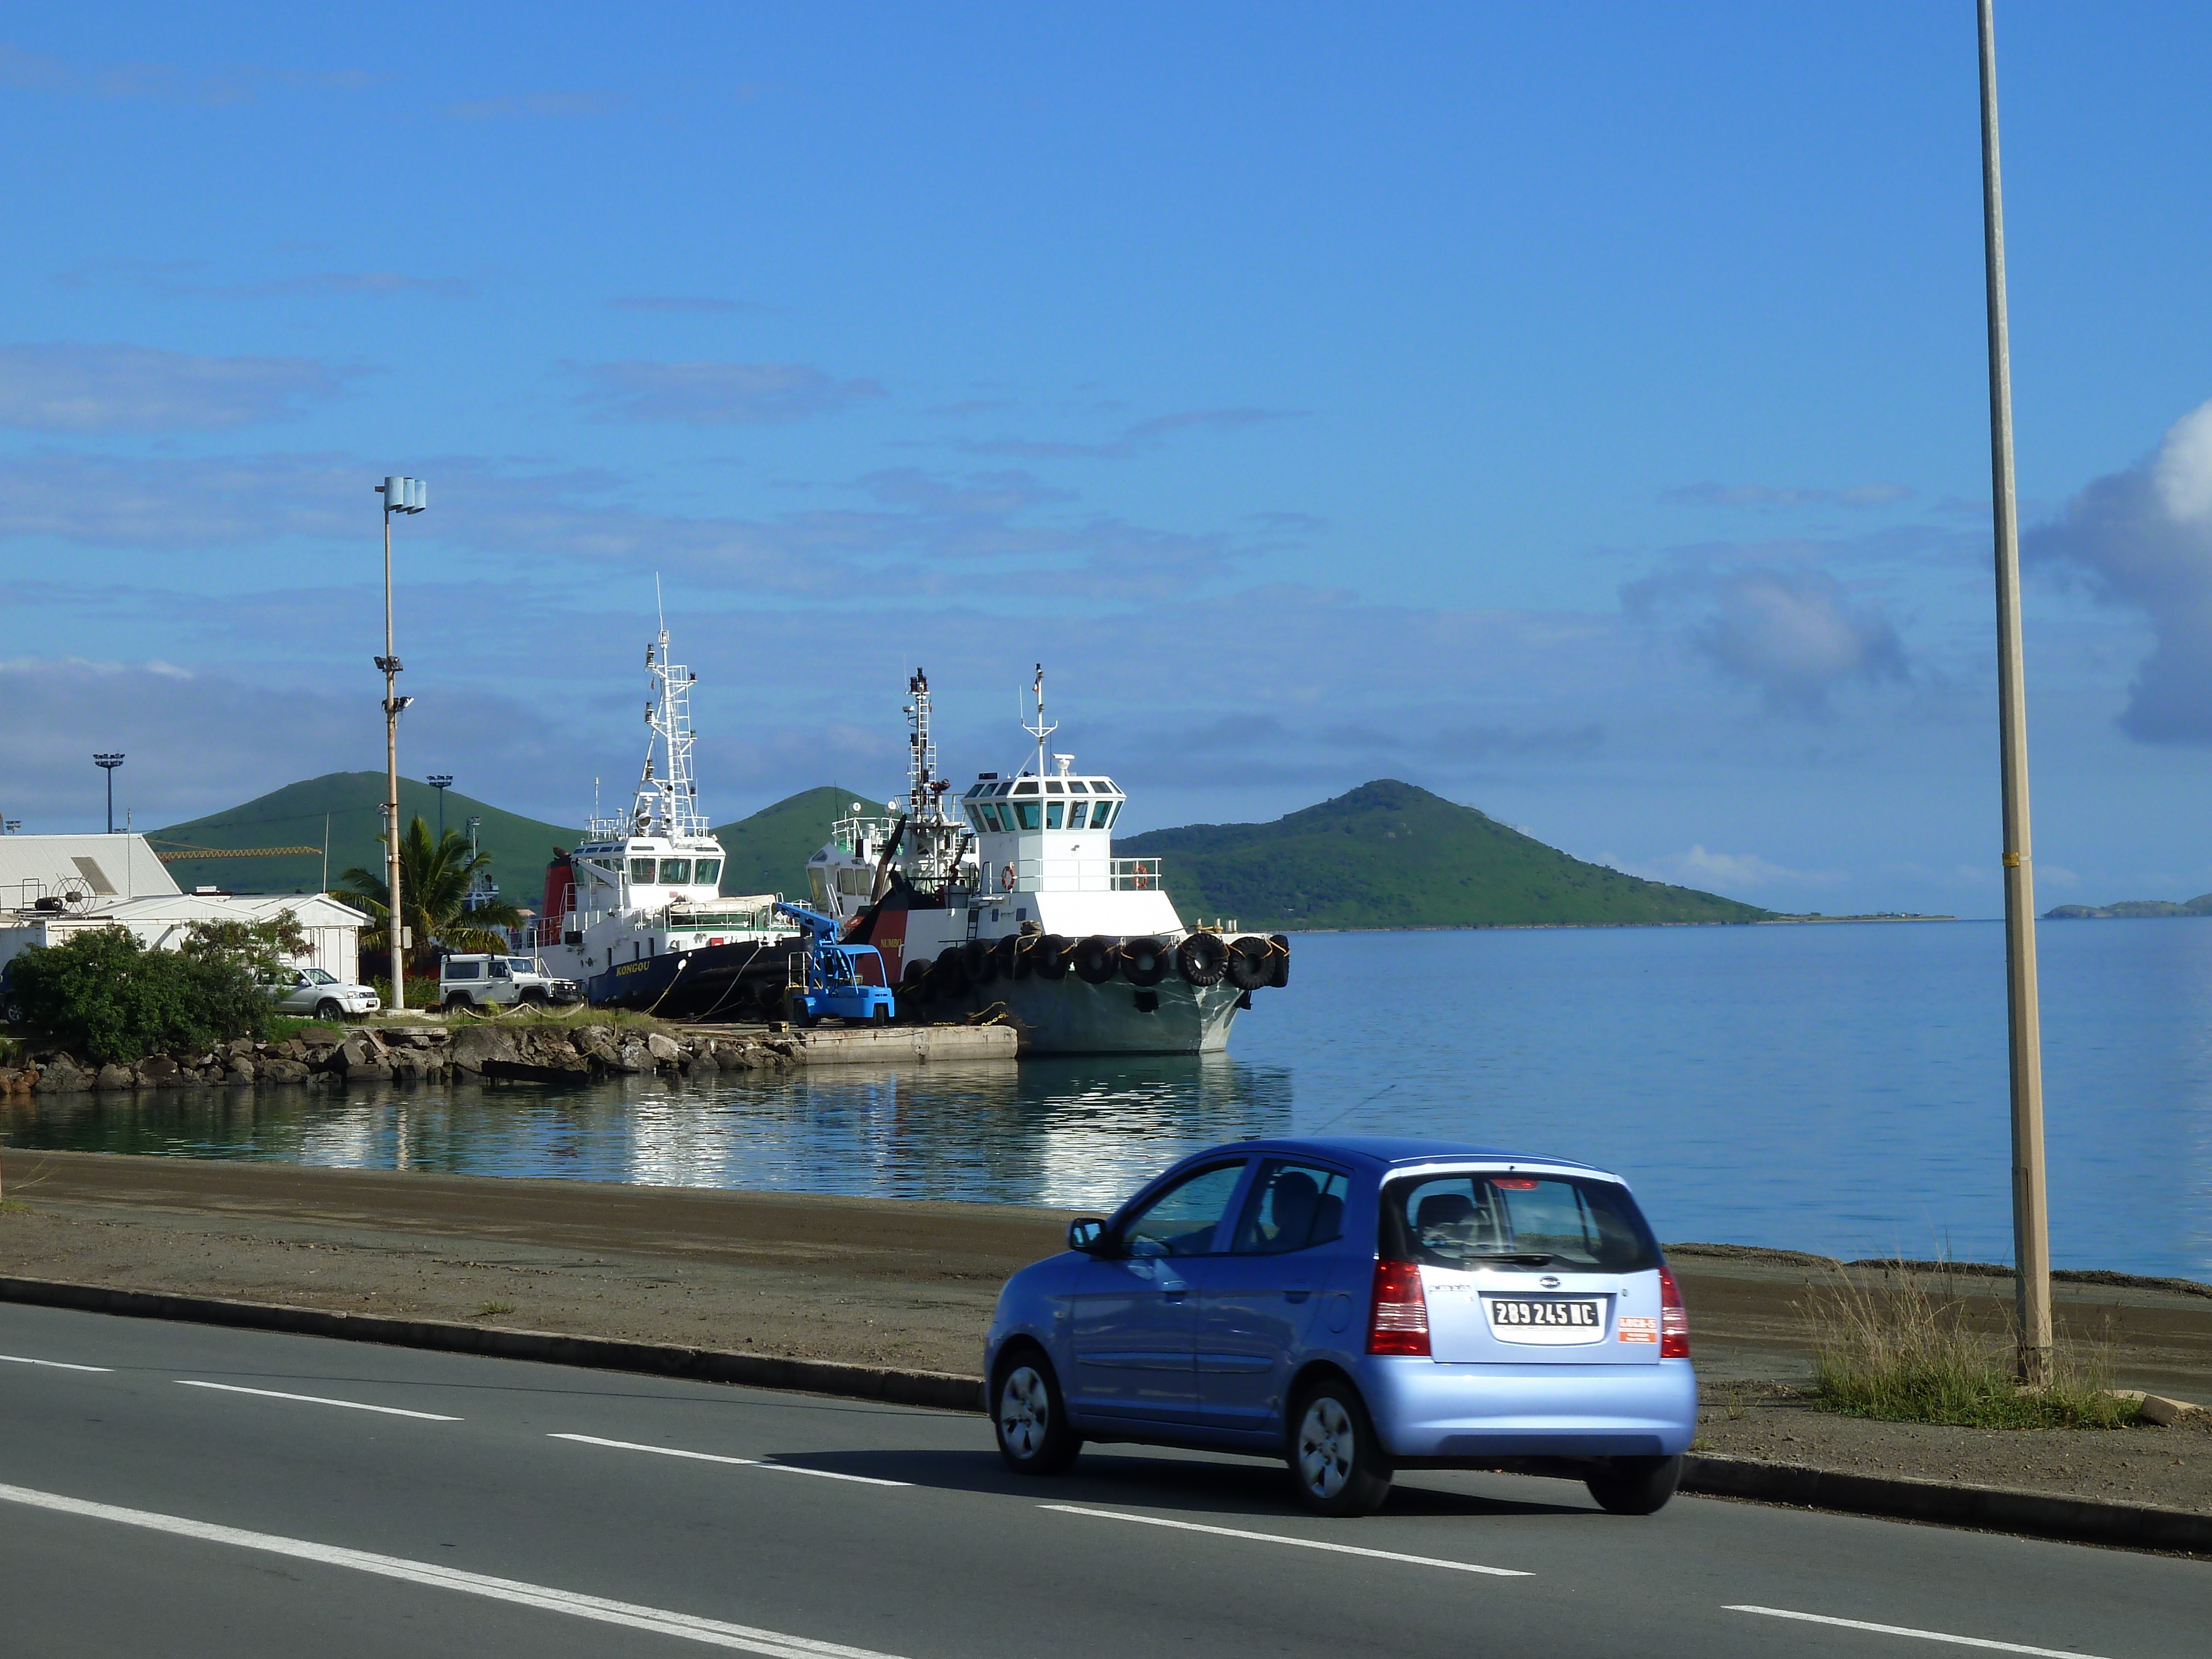
M82 1369L73 1369L82 1367ZM292 1398L299 1396L299 1398ZM0 1632L40 1655L2101 1655L2201 1659L2212 1564L0 1307Z

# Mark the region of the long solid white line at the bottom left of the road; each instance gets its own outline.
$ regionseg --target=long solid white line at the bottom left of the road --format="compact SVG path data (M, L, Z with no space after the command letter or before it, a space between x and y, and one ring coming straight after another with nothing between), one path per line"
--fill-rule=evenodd
M544 1613L566 1613L573 1619L597 1619L599 1624L622 1624L633 1630L650 1630L664 1637L703 1641L712 1648L741 1648L770 1659L891 1659L869 1648L847 1648L836 1641L814 1641L812 1637L787 1637L781 1630L757 1630L750 1624L723 1624L701 1619L692 1613L670 1613L668 1608L646 1608L635 1601L608 1601L597 1595L555 1590L544 1584L520 1579L495 1579L484 1573L462 1573L438 1562L409 1562L400 1555L372 1555L369 1551L338 1548L336 1544L312 1544L303 1537L276 1537L274 1533L248 1533L237 1526L195 1522L181 1515L155 1515L144 1509L117 1509L115 1504L91 1504L82 1498L31 1491L27 1486L0 1486L0 1502L49 1509L60 1515L82 1515L86 1520L119 1522L122 1526L144 1526L150 1533L173 1537L195 1537L206 1544L232 1544L237 1548L263 1551L268 1555L290 1555L299 1562L323 1566L345 1566L356 1573L376 1573L387 1579L427 1584L440 1590L462 1590L493 1601L513 1601Z

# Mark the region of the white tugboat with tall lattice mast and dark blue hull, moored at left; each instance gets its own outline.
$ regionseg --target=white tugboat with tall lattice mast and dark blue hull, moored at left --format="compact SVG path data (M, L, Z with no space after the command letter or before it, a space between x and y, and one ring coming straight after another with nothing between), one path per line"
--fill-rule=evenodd
M668 1018L781 1009L785 953L796 947L774 894L723 898L723 847L699 812L690 688L668 661L668 624L646 648L646 765L628 816L593 816L575 852L546 867L535 949L593 1004Z

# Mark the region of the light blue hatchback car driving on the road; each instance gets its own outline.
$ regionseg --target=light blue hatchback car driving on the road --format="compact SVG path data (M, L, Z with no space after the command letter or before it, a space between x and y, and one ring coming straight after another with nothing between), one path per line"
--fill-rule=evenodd
M1451 1141L1186 1157L1006 1281L984 1347L1006 1462L1086 1440L1281 1455L1323 1515L1398 1469L1582 1478L1650 1515L1697 1429L1690 1327L1628 1186Z

